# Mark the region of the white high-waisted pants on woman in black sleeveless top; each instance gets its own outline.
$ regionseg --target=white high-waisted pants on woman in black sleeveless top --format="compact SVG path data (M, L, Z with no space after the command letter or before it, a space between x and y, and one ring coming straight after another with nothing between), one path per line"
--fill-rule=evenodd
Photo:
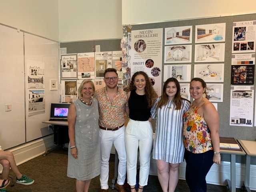
M136 184L138 147L140 150L140 186L148 184L150 156L153 145L153 130L149 121L129 120L125 130L128 184Z

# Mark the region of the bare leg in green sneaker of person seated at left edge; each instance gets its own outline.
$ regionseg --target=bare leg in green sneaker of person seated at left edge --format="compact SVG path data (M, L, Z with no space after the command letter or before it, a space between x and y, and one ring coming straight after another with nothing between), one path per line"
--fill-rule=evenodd
M16 174L16 177L17 177L16 183L20 183L20 184L24 184L24 185L30 185L30 184L34 183L33 179L30 179L20 173L20 171L16 165L16 162L14 160L14 156L13 156L12 152L0 150L0 161L6 162L6 160L10 163L10 167L12 168L12 171ZM9 172L8 172L8 174L9 174Z

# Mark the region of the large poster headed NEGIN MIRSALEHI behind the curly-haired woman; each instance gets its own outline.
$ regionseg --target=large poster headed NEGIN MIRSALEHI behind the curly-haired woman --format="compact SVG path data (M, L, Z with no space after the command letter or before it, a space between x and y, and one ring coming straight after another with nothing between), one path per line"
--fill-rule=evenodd
M146 72L158 96L162 86L162 34L163 29L132 31L129 51L131 76L137 71Z

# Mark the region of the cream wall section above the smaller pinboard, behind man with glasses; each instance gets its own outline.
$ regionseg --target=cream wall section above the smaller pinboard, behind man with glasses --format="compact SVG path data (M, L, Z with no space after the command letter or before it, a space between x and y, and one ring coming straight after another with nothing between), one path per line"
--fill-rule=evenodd
M121 0L59 0L60 42L122 38Z

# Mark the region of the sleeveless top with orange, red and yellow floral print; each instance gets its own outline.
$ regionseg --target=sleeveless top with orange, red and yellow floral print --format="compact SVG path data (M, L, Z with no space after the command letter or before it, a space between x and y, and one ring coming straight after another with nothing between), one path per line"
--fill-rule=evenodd
M185 148L192 153L212 150L210 129L204 118L197 112L198 107L191 105L183 115L183 139Z

